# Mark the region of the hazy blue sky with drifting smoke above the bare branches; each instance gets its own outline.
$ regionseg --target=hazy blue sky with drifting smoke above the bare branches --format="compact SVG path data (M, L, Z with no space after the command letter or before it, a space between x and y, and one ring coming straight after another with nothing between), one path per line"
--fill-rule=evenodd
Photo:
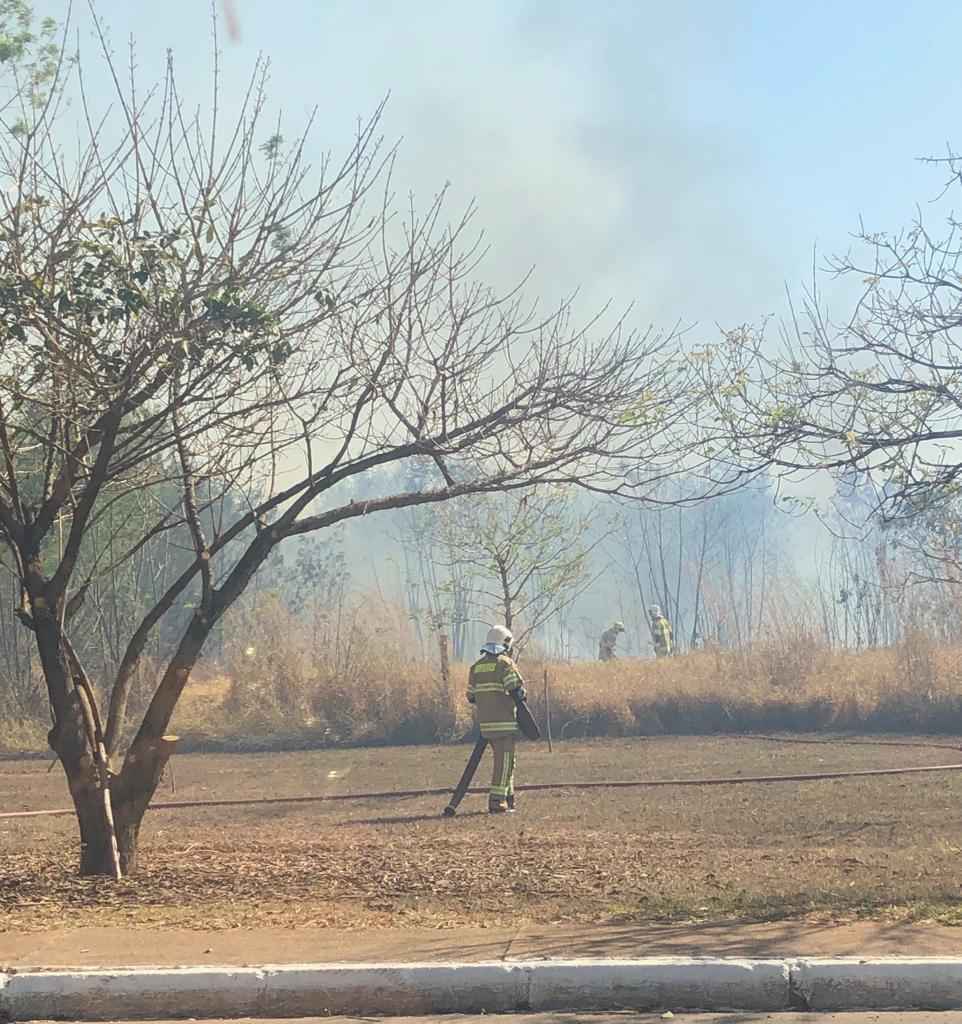
M950 2L234 6L228 96L263 51L291 133L320 108L320 152L390 92L399 190L426 203L450 181L452 216L475 198L492 281L534 266L547 299L633 302L636 322L696 323L698 337L784 312L812 247L846 248L860 214L895 228L926 205L942 177L916 158L944 152L962 110ZM206 102L204 0L97 9L117 44L136 38L144 79L172 47L184 93Z

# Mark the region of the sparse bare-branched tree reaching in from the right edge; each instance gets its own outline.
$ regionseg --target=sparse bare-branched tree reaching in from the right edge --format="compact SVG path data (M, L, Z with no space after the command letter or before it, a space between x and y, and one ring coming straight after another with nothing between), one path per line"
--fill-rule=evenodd
M944 196L962 185L962 161ZM700 364L725 383L715 392L733 443L719 457L748 470L824 469L875 486L888 523L954 498L962 482L962 222L932 233L921 212L894 233L860 226L852 251L828 269L861 288L842 322L815 282L775 347L740 328ZM717 378L720 383L721 377Z

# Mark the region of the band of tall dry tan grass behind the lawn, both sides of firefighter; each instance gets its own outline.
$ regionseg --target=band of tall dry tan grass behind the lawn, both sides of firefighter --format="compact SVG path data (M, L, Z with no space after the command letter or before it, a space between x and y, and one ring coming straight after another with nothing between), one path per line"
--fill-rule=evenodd
M446 743L466 737L467 666L411 657L390 605L370 601L334 624L305 626L270 599L233 627L223 674L192 679L173 723L185 750L298 750ZM375 626L371 626L371 623ZM751 732L962 733L962 647L924 634L900 646L832 651L804 634L751 651L662 660L542 665L522 660L544 723L550 680L554 735ZM0 752L42 750L40 726L0 724Z

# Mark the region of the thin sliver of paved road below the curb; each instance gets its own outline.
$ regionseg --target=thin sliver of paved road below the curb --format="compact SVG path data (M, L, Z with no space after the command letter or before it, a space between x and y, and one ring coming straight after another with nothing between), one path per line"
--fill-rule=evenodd
M292 1021L267 1018L238 1018L212 1021L210 1024L956 1024L962 1012L919 1011L858 1014L811 1013L726 1013L726 1014L497 1014L459 1015L444 1017L304 1017ZM45 1022L36 1022L45 1024ZM174 1021L111 1021L108 1024L182 1024Z

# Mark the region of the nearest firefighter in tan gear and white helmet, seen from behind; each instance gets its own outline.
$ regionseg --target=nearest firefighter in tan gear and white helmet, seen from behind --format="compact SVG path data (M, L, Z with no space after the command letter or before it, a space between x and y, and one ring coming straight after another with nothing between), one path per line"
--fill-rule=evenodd
M514 810L514 745L517 740L516 701L525 699L525 680L511 659L511 631L493 626L482 656L471 666L467 698L474 705L482 736L491 743L494 772L488 793L488 810L503 814Z

